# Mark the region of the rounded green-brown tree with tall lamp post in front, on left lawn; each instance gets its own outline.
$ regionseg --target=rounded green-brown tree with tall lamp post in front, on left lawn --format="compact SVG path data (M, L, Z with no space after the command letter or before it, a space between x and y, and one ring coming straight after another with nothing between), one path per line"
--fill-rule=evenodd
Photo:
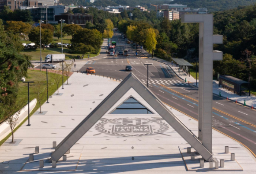
M29 40L40 45L40 27L34 27L31 29L29 35ZM49 29L41 29L41 43L42 45L47 45L53 41L53 32ZM44 49L44 47L42 47Z

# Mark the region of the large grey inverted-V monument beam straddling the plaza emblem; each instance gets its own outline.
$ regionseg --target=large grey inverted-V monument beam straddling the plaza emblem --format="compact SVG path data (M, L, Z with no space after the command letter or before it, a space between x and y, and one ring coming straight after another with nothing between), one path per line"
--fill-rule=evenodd
M202 142L192 133L168 108L131 72L90 114L60 144L51 155L52 160L58 161L84 134L94 126L120 100L133 88L178 134L198 152L203 159L213 160Z

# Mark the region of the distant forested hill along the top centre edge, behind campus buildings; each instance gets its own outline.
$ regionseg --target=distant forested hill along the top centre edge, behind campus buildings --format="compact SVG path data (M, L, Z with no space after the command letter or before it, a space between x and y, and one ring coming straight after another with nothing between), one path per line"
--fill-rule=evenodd
M77 6L118 6L118 5L128 5L130 7L134 7L136 5L140 5L146 8L155 9L155 7L150 6L150 4L168 4L170 0L96 0L94 3L88 3L86 0L60 0L62 4L76 4Z

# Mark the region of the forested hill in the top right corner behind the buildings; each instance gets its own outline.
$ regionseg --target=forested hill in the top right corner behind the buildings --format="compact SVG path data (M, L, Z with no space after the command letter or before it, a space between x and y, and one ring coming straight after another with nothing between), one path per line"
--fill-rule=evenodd
M223 11L247 6L256 3L256 0L173 0L169 4L183 4L190 8L208 8L209 12Z

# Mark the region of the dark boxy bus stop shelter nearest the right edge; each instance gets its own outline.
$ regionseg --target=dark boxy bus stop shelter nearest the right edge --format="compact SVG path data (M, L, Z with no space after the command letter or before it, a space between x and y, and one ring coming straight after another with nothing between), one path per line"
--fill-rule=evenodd
M251 95L250 83L232 76L219 76L218 86L220 85L222 85L223 88L226 87L226 89L232 90L234 94L237 93L240 96L241 94L249 94L249 96Z

